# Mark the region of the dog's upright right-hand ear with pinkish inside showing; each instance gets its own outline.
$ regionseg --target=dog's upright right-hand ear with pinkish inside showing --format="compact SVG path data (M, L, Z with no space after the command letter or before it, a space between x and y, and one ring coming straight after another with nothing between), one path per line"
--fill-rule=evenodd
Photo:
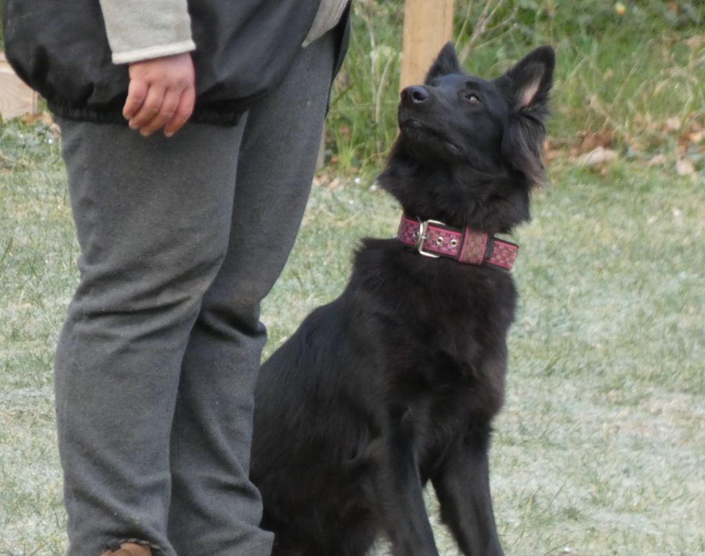
M555 67L556 52L553 47L539 47L498 78L497 84L512 93L513 109L516 111L546 109Z

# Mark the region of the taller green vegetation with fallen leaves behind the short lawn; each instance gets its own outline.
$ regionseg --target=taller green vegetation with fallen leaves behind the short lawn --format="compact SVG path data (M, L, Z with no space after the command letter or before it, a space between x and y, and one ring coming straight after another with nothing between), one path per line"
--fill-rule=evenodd
M328 160L378 166L396 137L404 3L355 0L353 37L336 82ZM606 130L629 156L675 149L705 116L705 2L456 0L455 44L470 73L494 78L541 44L558 54L554 144Z

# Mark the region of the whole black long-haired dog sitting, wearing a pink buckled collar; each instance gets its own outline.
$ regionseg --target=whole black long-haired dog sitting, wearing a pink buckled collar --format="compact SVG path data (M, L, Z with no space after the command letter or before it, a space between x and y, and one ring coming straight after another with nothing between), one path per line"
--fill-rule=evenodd
M460 550L502 554L487 451L516 247L493 235L529 219L544 181L554 65L541 47L486 81L448 44L425 85L402 92L379 178L404 210L398 239L364 240L343 295L305 319L257 385L251 473L274 554L362 556L386 533L397 556L437 556L429 480Z

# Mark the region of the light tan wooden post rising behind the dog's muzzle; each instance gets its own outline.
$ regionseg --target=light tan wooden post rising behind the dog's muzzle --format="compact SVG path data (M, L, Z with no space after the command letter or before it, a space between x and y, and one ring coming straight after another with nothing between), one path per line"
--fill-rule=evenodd
M421 83L453 38L454 0L406 0L400 88Z

